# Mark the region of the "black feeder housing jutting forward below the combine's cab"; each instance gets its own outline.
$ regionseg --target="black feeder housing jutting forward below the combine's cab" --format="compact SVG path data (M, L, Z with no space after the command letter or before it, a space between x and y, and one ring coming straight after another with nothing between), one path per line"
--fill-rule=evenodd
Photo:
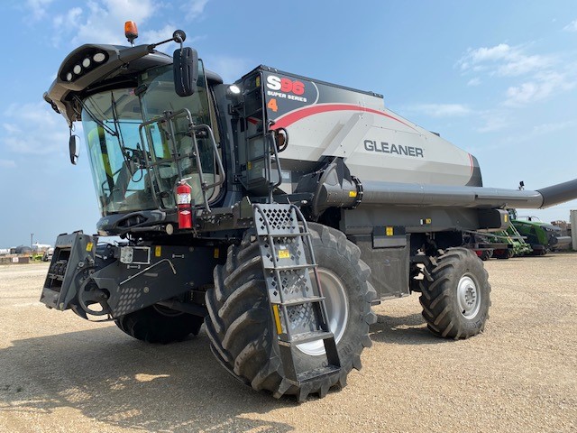
M204 293L225 251L214 242L98 244L96 235L59 235L41 302L82 318L119 318L164 301L204 317Z

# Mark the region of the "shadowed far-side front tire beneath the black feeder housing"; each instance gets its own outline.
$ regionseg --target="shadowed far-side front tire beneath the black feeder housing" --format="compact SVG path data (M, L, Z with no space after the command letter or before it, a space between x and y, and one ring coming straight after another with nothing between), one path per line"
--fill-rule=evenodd
M204 319L174 309L152 305L114 320L124 333L147 343L166 345L196 336Z

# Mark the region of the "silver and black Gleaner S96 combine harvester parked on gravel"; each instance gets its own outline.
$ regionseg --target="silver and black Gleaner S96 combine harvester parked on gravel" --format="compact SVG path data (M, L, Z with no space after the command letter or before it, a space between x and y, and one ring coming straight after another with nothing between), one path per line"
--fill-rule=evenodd
M464 235L506 207L577 197L482 188L468 152L380 95L260 66L234 84L183 46L82 45L44 99L81 121L98 235L60 235L41 301L150 343L196 335L275 397L321 397L361 368L371 305L420 293L435 336L485 327L490 284Z

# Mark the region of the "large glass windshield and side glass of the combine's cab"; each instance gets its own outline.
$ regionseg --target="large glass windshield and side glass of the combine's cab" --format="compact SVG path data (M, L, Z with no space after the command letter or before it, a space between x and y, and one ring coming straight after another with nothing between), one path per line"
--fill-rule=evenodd
M202 63L199 60L197 91L190 97L176 94L172 74L171 65L149 69L135 88L109 90L83 101L82 125L103 216L173 208L181 179L191 186L194 204L202 205L197 161L205 183L214 183L211 143L196 139L197 159L190 131L191 123L211 126ZM181 115L171 115L177 112ZM206 198L214 192L206 191Z

